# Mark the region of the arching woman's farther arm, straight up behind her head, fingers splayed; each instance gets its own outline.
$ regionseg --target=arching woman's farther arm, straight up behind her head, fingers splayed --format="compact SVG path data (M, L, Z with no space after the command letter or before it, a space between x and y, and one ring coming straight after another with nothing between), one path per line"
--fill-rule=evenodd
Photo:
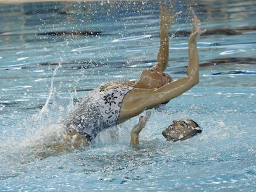
M173 20L179 15L181 12L177 12L174 15L171 15L173 12L173 6L169 11L167 10L166 3L159 4L160 10L160 48L158 51L157 64L152 67L153 70L158 72L164 72L168 65L169 59L169 28Z

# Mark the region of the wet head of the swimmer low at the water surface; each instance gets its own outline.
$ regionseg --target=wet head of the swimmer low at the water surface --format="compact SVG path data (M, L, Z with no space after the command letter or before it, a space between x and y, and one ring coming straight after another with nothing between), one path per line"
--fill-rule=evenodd
M167 141L176 142L178 140L187 140L191 136L201 132L202 130L198 127L197 123L193 120L185 119L178 121L174 120L173 124L169 125L169 127L162 132L162 135Z

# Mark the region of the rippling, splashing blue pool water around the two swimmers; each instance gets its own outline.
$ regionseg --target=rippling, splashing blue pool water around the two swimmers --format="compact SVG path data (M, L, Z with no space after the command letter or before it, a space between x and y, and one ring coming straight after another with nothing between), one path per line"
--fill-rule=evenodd
M73 101L156 62L158 1L0 4L0 191L256 191L256 2L172 2L182 14L167 72L186 73L193 6L208 29L200 83L151 110L138 148L135 117L114 138L105 131L95 146L60 153L36 146L56 139L51 125ZM165 141L161 131L183 118L202 134Z

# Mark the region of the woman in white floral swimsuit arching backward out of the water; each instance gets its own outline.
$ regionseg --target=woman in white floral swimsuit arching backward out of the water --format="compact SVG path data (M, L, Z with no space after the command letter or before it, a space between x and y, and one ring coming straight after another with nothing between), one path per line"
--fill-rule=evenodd
M164 73L169 59L169 27L179 15L179 13L171 15L172 12L173 8L168 11L166 4L160 2L160 49L157 64L148 70L143 70L137 81L109 82L83 98L77 109L64 120L67 140L77 143L76 146L88 146L101 130L168 102L199 82L197 41L205 30L200 30L200 20L194 12L192 12L193 28L189 37L187 75L173 81ZM146 117L148 119L149 115L147 114ZM145 126L147 120L140 119L140 122ZM139 143L139 132L136 128L132 129L132 146Z

